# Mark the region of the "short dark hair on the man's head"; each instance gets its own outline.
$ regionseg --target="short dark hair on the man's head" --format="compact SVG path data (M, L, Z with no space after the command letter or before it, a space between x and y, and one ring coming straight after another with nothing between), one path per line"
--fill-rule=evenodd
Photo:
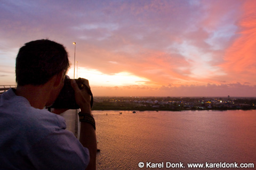
M17 55L16 82L19 86L45 84L68 68L68 53L63 45L48 39L30 41Z

